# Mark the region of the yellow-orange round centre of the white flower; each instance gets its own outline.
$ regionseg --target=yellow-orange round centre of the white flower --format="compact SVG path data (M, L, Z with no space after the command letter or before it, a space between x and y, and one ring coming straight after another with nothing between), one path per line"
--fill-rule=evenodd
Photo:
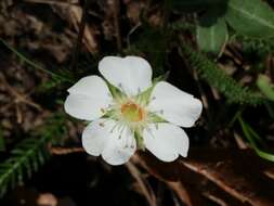
M121 115L128 121L142 121L145 118L145 111L133 102L121 105Z

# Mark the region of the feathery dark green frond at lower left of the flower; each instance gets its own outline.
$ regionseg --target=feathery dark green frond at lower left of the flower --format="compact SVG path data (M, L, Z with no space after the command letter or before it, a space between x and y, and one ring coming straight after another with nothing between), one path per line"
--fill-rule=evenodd
M11 157L0 164L0 196L3 196L8 189L23 183L25 177L30 178L50 157L47 145L63 134L64 120L54 116L32 133L34 137L18 143L11 151Z

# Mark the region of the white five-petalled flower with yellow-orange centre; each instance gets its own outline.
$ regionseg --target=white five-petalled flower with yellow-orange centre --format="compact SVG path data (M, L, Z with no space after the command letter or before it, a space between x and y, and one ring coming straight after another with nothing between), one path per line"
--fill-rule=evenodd
M110 165L121 165L138 149L164 162L186 156L188 138L201 102L166 81L153 82L151 65L138 56L106 56L99 76L80 79L68 89L65 111L91 120L82 132L84 150Z

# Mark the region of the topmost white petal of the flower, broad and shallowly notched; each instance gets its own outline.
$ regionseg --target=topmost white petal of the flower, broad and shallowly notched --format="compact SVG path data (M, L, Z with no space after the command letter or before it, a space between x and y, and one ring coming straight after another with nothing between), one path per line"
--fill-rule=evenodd
M99 70L128 95L135 95L152 86L152 67L139 56L106 56L100 61Z

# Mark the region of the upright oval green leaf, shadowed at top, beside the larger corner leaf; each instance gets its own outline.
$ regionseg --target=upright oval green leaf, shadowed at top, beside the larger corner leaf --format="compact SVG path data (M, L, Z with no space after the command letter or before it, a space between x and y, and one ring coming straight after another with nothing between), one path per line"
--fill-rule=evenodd
M229 38L223 17L212 14L201 16L197 25L197 43L201 51L219 54Z

